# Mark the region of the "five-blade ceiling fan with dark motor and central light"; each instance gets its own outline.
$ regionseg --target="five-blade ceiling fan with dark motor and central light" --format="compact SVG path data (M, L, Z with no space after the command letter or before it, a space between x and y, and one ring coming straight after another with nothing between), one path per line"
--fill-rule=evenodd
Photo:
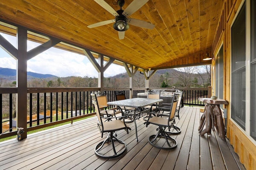
M116 18L113 20L106 20L102 22L98 22L95 24L92 24L90 26L87 26L88 28L95 28L98 26L104 26L106 24L111 24L114 22L114 29L118 31L118 37L120 40L124 39L124 32L129 29L129 24L147 28L147 29L153 29L155 26L153 24L150 24L148 22L137 20L133 18L127 18L128 16L132 15L134 12L136 12L138 9L140 9L148 0L134 0L125 10L122 10L122 6L124 6L124 0L118 0L117 4L120 6L120 10L115 11L108 3L106 3L104 0L94 0L97 2L102 8L110 12L113 16Z

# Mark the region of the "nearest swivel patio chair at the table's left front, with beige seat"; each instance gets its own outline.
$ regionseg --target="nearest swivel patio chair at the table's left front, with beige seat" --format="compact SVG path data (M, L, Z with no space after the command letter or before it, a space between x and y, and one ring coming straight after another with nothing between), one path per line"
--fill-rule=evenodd
M97 126L100 130L101 137L103 138L104 132L108 133L108 136L106 137L106 139L95 146L94 148L95 154L100 158L107 158L107 159L121 156L126 151L126 144L124 143L124 141L116 138L117 135L115 132L117 130L124 129L128 134L128 130L131 130L131 128L125 124L123 116L118 117L118 118L122 118L123 119L122 121L119 119L117 120L115 119L113 121L102 121L102 119L113 119L113 118L102 117L100 114L100 107L98 105L98 100L97 100L98 98L96 97L96 94L91 94L91 97L92 97L92 103L94 104L94 107L96 110ZM106 153L108 151L106 147L109 142L111 142L114 155L110 153ZM118 145L118 150L116 150L116 147L115 147L116 142L121 144L121 145ZM111 152L111 150L109 152Z

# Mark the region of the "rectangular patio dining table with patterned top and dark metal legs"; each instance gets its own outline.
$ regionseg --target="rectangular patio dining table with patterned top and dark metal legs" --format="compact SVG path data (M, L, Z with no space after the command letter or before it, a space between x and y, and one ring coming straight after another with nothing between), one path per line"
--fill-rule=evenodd
M152 105L154 103L159 103L163 101L163 99L145 99L145 98L133 98L133 99L124 99L118 101L110 101L108 105L115 105L122 112L122 116L125 116L126 119L130 119L134 122L135 125L135 134L136 140L138 142L138 134L137 134L137 125L136 120L140 119L144 115L147 115L150 112L150 109L144 108L146 106ZM121 109L121 106L124 107L133 107L133 110L124 112Z

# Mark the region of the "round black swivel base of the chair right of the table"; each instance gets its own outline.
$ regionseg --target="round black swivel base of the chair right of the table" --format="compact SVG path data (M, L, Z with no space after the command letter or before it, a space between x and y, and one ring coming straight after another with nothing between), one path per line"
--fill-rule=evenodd
M166 127L158 127L158 132L156 133L156 134L154 134L154 135L151 135L151 136L149 136L148 137L148 142L152 145L152 146L154 146L154 147L156 147L156 148L158 148L158 149L165 149L165 150L171 150L171 149L174 149L174 148L176 148L177 147L177 141L176 141L176 139L174 139L173 137L171 137L166 131L165 131L165 128ZM157 145L157 143L160 141L160 139L159 140L157 140L157 138L165 138L165 142L166 142L166 144L164 144L164 145L162 145L162 144L160 144L160 145ZM156 141L156 142L155 142ZM171 143L170 143L171 142ZM166 146L167 145L167 146Z

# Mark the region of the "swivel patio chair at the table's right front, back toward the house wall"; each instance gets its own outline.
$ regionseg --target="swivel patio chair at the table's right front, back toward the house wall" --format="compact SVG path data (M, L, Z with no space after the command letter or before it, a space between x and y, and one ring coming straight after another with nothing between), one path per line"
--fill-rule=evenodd
M148 137L148 142L159 149L174 149L177 147L177 141L175 138L171 137L170 134L180 134L181 130L179 127L174 126L175 124L175 112L178 104L179 94L174 93L172 98L171 107L161 107L160 110L163 113L149 113L148 120L146 122L146 127L149 124L157 125L157 133ZM151 117L151 114L156 114L157 116ZM160 115L168 115L167 117L160 117ZM167 132L167 130L169 132ZM175 132L173 130L176 130ZM165 139L163 142L162 138Z

